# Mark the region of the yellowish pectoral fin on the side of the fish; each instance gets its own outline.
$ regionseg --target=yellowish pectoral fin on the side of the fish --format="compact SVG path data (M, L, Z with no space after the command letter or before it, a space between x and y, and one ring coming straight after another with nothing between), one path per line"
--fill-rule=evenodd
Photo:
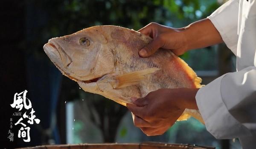
M125 73L115 77L115 81L111 82L113 88L124 88L131 85L138 84L140 80L145 79L145 75L151 74L160 70L160 68L153 67L145 70Z

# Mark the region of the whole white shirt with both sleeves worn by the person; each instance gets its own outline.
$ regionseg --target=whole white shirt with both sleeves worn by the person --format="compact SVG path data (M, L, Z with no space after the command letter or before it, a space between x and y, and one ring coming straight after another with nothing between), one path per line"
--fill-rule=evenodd
M237 72L198 90L199 111L215 138L239 138L243 149L255 149L256 0L229 0L208 18L236 55Z

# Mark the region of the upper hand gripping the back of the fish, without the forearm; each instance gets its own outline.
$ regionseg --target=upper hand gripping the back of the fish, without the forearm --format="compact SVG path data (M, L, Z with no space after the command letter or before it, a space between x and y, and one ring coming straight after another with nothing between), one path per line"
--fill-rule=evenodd
M153 41L139 51L140 56L151 56L159 48L172 50L176 55L185 53L187 50L186 38L182 30L182 28L171 28L155 22L149 23L139 32L153 38Z

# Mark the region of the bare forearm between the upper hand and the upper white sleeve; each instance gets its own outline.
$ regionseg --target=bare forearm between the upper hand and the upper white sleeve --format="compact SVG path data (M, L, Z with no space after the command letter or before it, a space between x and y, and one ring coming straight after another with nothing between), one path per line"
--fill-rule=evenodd
M186 51L223 42L221 35L209 19L193 22L181 30L185 38Z

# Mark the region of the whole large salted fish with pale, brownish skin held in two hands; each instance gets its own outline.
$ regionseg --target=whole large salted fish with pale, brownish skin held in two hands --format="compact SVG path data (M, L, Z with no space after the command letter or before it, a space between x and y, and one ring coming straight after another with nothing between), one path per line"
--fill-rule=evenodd
M125 106L131 97L142 98L160 88L201 87L201 78L170 50L141 58L138 51L151 41L128 28L102 25L52 38L44 51L84 91ZM198 110L186 109L178 120L190 115L204 123Z

